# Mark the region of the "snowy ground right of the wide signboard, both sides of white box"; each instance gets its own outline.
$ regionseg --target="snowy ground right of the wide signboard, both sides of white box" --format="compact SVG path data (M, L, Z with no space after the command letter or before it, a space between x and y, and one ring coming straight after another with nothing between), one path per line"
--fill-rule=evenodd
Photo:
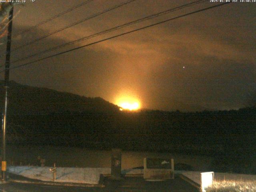
M190 180L201 184L201 174L199 171L175 171L176 174L182 174ZM214 180L235 180L235 181L255 181L256 175L234 174L234 173L216 173L214 172Z

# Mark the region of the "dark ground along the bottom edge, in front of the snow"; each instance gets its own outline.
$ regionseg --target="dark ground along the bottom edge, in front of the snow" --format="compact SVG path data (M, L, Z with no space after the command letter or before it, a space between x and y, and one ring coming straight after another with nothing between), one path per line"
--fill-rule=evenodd
M0 185L0 192L198 192L196 188L180 178L160 182L149 182L143 178L105 179L104 188L47 186L39 184L7 183Z

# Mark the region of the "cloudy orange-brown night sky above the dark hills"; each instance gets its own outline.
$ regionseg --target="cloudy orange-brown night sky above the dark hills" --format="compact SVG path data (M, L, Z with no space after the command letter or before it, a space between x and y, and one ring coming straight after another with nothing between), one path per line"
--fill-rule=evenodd
M13 36L85 0L16 6ZM12 39L12 48L125 0L94 0ZM112 28L190 0L135 0L12 52L11 60ZM198 4L42 54L16 66L218 3ZM256 98L256 3L230 3L10 71L10 80L159 110L230 110ZM6 37L1 38L2 52ZM1 63L4 58L1 58ZM3 73L1 74L3 79Z

